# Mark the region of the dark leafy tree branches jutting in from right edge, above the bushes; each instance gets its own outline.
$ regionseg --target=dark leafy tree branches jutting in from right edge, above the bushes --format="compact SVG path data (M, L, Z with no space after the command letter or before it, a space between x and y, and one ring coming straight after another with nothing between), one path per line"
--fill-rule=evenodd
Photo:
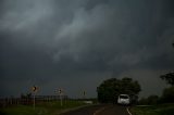
M169 73L160 77L161 79L165 80L169 85L174 86L174 73Z

